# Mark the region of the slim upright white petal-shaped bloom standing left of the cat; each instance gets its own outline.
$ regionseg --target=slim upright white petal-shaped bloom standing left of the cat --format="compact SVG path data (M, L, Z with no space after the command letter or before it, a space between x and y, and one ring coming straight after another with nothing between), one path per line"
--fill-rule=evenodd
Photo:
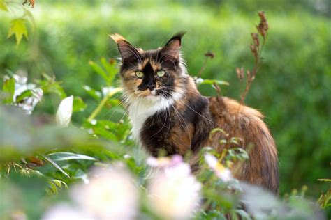
M71 120L71 114L73 113L73 95L66 97L59 104L57 109L57 123L61 126L68 126Z

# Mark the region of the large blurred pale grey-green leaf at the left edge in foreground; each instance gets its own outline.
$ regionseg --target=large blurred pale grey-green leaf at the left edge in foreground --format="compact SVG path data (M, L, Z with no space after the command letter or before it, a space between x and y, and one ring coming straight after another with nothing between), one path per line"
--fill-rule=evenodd
M36 152L89 145L89 136L81 129L40 123L38 118L27 116L17 107L0 105L0 162Z

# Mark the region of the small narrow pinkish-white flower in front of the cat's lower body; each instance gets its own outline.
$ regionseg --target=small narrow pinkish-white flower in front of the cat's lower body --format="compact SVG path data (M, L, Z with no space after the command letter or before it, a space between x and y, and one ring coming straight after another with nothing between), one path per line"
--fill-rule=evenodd
M219 163L219 161L215 156L206 154L205 162L208 164L210 168L212 168L212 170L217 175L217 177L223 180L224 182L233 180L231 171L228 168L224 167L221 163Z

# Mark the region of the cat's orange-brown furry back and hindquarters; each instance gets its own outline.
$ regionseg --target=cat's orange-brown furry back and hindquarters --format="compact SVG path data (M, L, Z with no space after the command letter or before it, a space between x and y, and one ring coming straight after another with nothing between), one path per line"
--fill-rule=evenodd
M249 162L236 169L235 177L278 193L278 153L274 139L263 122L263 114L228 97L209 97L209 110L219 127L228 136L240 138L240 146L249 153ZM221 150L219 139L227 138L219 132L210 144Z

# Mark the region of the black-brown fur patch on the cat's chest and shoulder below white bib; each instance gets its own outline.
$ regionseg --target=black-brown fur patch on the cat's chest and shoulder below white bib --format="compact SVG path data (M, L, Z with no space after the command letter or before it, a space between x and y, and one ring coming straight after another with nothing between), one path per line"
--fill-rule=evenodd
M140 138L143 146L152 153L158 156L160 150L165 150L168 155L179 154L179 149L176 143L169 141L172 129L176 126L193 125L193 139L191 146L187 146L187 150L197 152L203 147L203 143L209 136L209 132L213 128L213 122L208 111L208 100L205 97L191 97L186 104L186 109L182 112L174 110L174 107L161 111L147 118L145 125L140 131ZM184 120L184 122L183 122ZM180 121L181 123L175 123ZM181 127L180 129L185 129Z

